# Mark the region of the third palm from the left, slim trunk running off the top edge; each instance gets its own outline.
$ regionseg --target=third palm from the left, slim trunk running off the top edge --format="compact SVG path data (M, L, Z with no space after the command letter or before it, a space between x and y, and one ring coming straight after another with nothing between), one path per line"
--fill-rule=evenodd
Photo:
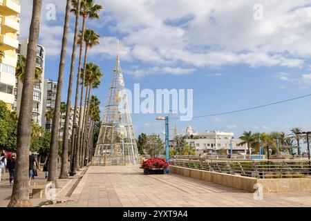
M75 52L77 50L77 39L79 32L79 15L80 15L80 6L82 0L71 1L72 7L75 8L75 35L73 37L73 52L71 54L71 64L70 64L70 75L69 75L69 84L68 84L68 92L67 92L67 102L66 102L66 118L64 124L64 134L63 134L63 145L62 145L62 159L66 158L66 153L68 152L68 135L69 135L69 121L70 121L70 110L71 110L71 95L73 92L73 73L75 72ZM70 12L73 12L73 8L71 8ZM76 109L75 109L76 113ZM73 125L75 125L75 117L73 121ZM75 131L73 131L75 133ZM73 135L73 137L75 137ZM74 139L71 140L72 146L74 147ZM73 157L74 148L71 148L71 156ZM67 160L62 160L61 172L59 175L60 178L68 177L68 165Z

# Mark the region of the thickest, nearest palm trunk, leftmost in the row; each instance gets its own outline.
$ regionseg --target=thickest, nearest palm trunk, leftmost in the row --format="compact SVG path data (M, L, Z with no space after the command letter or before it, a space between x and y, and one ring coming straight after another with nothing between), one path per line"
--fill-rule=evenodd
M32 18L27 47L27 61L23 76L23 90L21 93L21 109L17 127L17 159L11 200L8 207L30 206L28 186L29 148L31 139L32 95L35 81L37 44L39 38L40 15L42 0L32 1Z

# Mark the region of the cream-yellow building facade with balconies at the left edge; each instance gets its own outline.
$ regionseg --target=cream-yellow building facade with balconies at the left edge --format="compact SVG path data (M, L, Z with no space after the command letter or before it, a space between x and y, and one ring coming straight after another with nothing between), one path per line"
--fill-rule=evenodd
M17 0L0 0L0 100L10 110L15 102L15 71L19 41L19 14Z

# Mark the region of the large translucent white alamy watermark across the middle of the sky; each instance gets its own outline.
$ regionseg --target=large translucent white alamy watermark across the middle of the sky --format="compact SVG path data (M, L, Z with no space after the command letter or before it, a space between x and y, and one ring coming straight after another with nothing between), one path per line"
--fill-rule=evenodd
M168 114L176 113L180 121L190 121L194 113L193 89L140 89L140 84L134 84L133 92L121 90L118 95L118 111L124 113ZM127 105L126 105L127 104Z

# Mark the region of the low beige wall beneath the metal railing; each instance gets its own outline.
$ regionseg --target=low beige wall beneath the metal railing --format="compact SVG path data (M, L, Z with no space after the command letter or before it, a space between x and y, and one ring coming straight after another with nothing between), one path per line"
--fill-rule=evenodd
M169 171L170 173L231 186L251 193L256 191L254 189L255 184L263 186L263 193L311 191L311 178L257 179L241 175L189 169L181 166L169 166Z

